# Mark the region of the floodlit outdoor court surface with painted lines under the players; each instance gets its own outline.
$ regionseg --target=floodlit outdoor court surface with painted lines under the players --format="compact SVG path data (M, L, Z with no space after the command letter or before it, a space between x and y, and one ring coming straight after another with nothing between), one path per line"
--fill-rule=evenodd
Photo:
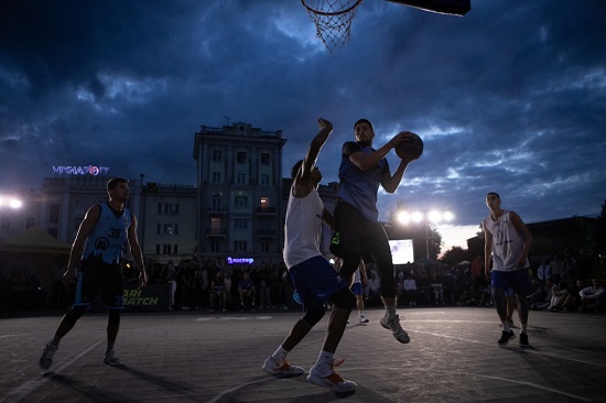
M297 312L125 314L120 367L102 363L107 316L88 314L45 374L37 360L61 316L3 318L0 402L606 402L604 314L531 312L529 349L497 346L494 308L400 309L409 345L379 325L382 314L367 311L366 325L351 314L336 353L358 383L348 395L261 371ZM326 318L292 363L313 364Z

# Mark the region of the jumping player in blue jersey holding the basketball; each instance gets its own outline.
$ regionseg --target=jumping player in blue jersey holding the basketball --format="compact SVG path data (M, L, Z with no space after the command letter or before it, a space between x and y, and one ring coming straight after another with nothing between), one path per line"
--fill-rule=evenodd
M402 159L393 175L386 160L387 153L413 134L400 132L378 150L372 149L375 129L367 119L354 124L356 141L343 144L337 205L335 207L335 236L331 251L343 259L339 273L350 277L360 259L375 262L381 281L380 294L386 315L382 327L390 329L400 342L409 342L408 334L396 314L396 281L391 249L377 210L379 186L393 193L400 185L412 159Z

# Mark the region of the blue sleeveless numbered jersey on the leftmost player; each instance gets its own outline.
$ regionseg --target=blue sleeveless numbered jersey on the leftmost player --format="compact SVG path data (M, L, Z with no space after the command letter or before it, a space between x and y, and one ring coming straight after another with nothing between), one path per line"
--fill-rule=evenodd
M128 208L116 218L107 203L99 204L101 214L93 231L88 235L84 249L85 260L117 264L122 260L127 231L131 225L131 214Z

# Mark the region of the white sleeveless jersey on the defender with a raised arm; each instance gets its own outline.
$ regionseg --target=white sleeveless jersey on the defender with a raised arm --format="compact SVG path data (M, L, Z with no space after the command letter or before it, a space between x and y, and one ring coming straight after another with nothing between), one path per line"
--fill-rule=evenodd
M322 255L322 214L324 204L314 188L305 197L294 197L292 187L284 226L284 263L290 269L307 259Z

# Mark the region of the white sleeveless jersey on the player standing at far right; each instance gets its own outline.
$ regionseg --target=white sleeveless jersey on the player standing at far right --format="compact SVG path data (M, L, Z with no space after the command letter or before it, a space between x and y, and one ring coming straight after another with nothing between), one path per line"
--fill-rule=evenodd
M493 270L517 270L524 241L511 224L509 210L502 210L502 215L496 221L488 215L484 219L484 228L493 235ZM530 268L528 259L524 268Z

